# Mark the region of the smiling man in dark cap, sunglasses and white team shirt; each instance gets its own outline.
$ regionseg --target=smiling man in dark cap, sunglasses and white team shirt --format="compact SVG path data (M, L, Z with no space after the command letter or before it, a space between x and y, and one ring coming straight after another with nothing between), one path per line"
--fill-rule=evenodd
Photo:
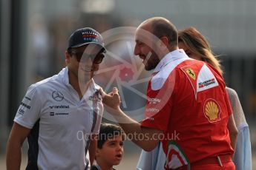
M19 106L7 143L7 169L20 168L26 137L27 169L90 168L103 112L93 72L104 56L96 30L86 27L70 35L67 67L31 85Z

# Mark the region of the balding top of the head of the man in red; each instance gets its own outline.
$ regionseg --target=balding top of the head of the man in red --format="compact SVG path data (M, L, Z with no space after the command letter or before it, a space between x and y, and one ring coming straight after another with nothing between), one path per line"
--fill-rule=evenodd
M148 18L143 21L142 24L138 27L138 29L143 29L151 32L156 35L157 38L161 38L163 36L168 38L169 44L171 47L176 48L178 43L178 34L177 29L174 24L171 23L166 18L163 17L153 17Z

